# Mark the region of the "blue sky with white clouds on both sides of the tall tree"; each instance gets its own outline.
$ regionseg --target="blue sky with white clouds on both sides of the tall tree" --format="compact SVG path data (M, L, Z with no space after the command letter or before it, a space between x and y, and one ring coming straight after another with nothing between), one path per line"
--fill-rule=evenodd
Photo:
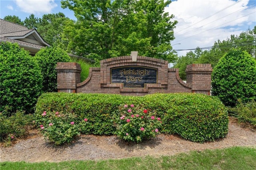
M173 49L209 47L256 26L256 0L173 0L165 11L178 21ZM23 21L30 14L41 18L58 12L76 20L74 12L61 8L60 0L0 0L2 19L16 15ZM178 51L178 55L189 51Z

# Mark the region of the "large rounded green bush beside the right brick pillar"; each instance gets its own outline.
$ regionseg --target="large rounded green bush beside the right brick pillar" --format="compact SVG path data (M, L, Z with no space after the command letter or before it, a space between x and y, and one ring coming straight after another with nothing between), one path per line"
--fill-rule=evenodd
M234 107L256 99L256 61L246 51L226 53L212 72L212 95L226 106Z

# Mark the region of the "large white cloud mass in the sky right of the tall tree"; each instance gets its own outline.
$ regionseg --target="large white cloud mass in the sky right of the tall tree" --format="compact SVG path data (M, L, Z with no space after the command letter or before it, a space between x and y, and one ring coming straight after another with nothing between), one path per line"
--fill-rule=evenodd
M239 35L256 23L255 2L249 0L177 0L165 11L178 21L174 29L174 49L192 49L212 46L215 41ZM253 13L254 12L254 13ZM247 15L247 16L246 16ZM188 51L180 51L186 55Z

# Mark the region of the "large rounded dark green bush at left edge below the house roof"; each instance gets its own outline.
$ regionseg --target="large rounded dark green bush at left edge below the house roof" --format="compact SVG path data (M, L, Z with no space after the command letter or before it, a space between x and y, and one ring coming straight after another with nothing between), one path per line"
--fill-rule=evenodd
M16 43L0 44L0 111L33 111L42 91L40 68L28 51Z

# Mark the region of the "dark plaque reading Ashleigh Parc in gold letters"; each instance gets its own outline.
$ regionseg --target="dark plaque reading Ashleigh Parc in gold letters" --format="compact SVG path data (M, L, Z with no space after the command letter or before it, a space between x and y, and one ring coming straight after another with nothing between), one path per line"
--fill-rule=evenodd
M157 84L158 69L140 66L111 69L111 83L123 83L124 88L145 88L145 84Z

